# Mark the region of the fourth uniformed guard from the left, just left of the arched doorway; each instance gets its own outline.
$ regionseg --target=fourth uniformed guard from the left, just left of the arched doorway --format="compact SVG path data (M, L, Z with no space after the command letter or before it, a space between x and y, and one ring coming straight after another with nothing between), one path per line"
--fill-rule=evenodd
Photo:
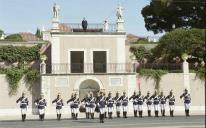
M72 113L73 113L72 118L75 120L78 120L78 111L79 111L80 101L79 101L79 98L77 97L77 93L75 93L74 96L67 101L67 104L69 102L72 102L72 107L71 107Z

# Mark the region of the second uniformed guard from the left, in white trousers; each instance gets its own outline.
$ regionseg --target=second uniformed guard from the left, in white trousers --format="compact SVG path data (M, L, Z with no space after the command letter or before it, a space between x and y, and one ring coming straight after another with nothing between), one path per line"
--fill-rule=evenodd
M46 106L47 106L47 102L46 100L44 99L44 95L41 94L40 95L40 98L35 100L34 101L35 105L37 106L38 108L38 111L39 111L39 119L41 121L44 120L44 117L45 117L45 109L46 109Z

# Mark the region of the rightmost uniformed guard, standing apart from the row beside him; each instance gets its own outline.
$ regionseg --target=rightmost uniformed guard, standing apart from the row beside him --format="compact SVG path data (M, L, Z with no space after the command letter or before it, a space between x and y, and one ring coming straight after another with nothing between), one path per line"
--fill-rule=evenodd
M189 109L190 109L190 103L191 103L191 96L188 93L187 89L185 89L185 92L180 96L180 99L182 98L184 98L185 115L190 116Z

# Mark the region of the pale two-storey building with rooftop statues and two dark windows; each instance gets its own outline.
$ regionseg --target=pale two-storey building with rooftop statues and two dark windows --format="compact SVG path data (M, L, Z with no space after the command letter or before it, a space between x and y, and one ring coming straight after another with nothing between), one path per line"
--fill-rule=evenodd
M50 102L57 93L68 99L78 93L82 99L88 92L113 95L136 90L135 64L128 62L123 8L117 8L117 21L110 24L61 23L59 6L54 6L52 28L43 32L51 42L51 63L41 64L41 93Z

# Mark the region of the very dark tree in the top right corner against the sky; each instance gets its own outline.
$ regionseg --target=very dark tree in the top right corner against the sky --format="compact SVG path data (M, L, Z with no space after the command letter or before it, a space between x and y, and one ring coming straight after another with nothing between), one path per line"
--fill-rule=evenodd
M174 28L205 28L205 0L151 0L141 13L145 27L155 34Z

